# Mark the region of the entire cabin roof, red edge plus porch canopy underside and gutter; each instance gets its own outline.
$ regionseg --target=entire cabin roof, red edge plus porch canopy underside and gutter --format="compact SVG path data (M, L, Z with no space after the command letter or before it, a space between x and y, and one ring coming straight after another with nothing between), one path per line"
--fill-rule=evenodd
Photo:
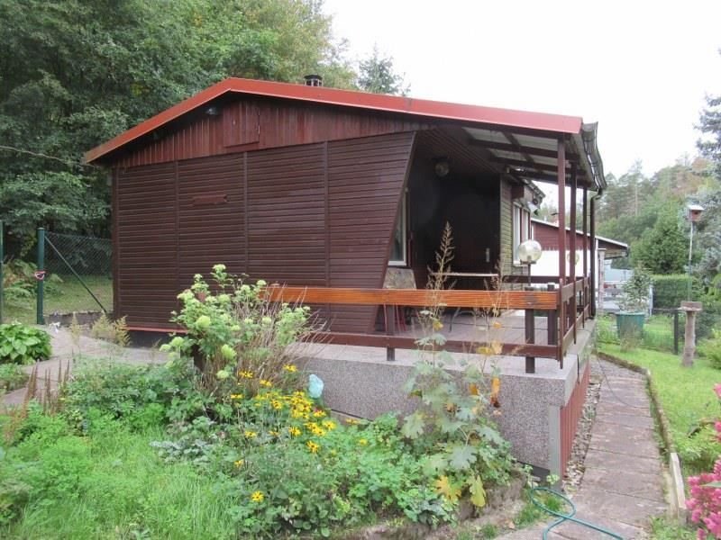
M605 186L596 145L597 124L584 123L580 117L242 78L225 79L160 112L89 150L85 160L92 163L106 159L132 141L225 94L259 95L452 122L461 125L470 144L479 148L485 157L504 166L507 174L525 181L557 181L557 145L563 140L566 161L579 166L579 183L591 189ZM569 168L566 167L567 171Z

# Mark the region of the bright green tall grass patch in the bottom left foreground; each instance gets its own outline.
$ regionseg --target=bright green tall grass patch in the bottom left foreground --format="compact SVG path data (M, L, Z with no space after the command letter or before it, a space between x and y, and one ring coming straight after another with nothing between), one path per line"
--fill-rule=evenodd
M110 426L98 436L64 436L37 442L39 450L19 449L37 460L23 465L33 490L19 520L0 527L0 537L235 537L225 511L233 494L191 464L160 466L150 446L165 437L160 428L131 433Z

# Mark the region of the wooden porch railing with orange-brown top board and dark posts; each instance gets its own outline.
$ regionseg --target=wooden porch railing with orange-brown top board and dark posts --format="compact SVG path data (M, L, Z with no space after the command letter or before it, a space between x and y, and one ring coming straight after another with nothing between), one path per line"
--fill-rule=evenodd
M527 280L527 277L525 278ZM547 276L534 278L535 283L551 283ZM520 282L520 280L519 280ZM397 307L469 308L478 310L525 311L525 343L501 343L502 355L525 356L527 373L534 373L537 356L556 358L561 367L570 343L575 341L577 327L589 317L589 279L583 278L561 289L546 291L430 291L418 289L353 289L332 287L269 287L269 299L274 302L305 303L315 305L374 305L385 311L386 334L349 332L317 332L312 338L336 345L385 347L387 359L395 359L395 349L415 349L416 338L397 336ZM534 321L537 311L545 312L548 319L548 345L535 343ZM449 339L443 348L451 352L475 352L479 344Z

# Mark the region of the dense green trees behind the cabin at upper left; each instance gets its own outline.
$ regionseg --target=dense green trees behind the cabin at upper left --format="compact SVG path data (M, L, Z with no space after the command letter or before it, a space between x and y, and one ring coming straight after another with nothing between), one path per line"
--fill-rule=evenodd
M0 0L0 215L107 234L103 169L83 152L226 76L354 74L317 0Z

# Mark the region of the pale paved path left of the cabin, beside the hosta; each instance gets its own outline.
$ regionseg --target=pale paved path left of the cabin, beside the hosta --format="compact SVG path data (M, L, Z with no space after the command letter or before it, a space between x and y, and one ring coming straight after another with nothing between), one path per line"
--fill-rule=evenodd
M160 353L158 349L135 348L135 347L117 347L112 343L103 341L102 339L87 338L80 336L78 342L70 335L68 329L54 327L46 328L50 334L50 344L52 346L52 356L50 360L39 362L38 366L38 387L43 388L45 379L50 379L51 387L58 385L59 366L62 364L64 372L69 363L70 371L77 365L80 359L108 358L120 362L128 362L135 364L151 364L164 363L167 357L164 353ZM30 374L35 365L25 366L25 372ZM5 405L18 405L23 402L25 397L25 389L8 392L4 396Z

